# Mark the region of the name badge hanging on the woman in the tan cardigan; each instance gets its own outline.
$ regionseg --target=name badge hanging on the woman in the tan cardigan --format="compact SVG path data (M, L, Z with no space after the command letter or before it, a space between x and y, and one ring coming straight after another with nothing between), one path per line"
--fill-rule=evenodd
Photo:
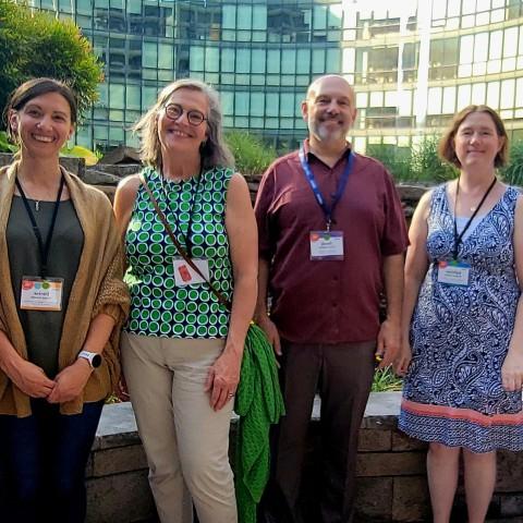
M25 311L61 311L63 278L22 277L20 308Z

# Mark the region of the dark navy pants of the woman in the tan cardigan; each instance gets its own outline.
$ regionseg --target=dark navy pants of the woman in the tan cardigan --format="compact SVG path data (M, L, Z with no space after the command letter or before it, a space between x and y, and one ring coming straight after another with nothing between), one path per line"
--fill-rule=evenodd
M102 406L85 403L82 414L62 415L59 405L33 400L28 417L0 415L2 521L83 523L85 465Z

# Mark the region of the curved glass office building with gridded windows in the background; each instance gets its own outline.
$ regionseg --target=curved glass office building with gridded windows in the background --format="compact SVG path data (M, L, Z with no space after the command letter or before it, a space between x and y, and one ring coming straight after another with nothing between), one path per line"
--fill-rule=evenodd
M136 145L130 127L163 85L191 76L220 93L228 129L281 148L305 136L311 80L356 90L352 139L408 147L469 104L499 110L523 138L522 0L31 0L72 17L105 63L77 142Z

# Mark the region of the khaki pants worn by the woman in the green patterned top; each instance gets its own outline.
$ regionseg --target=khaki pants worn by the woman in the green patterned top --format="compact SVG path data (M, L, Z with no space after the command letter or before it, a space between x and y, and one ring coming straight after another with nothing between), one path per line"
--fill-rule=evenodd
M215 412L205 392L223 340L122 335L122 362L161 523L236 523L229 464L233 402Z

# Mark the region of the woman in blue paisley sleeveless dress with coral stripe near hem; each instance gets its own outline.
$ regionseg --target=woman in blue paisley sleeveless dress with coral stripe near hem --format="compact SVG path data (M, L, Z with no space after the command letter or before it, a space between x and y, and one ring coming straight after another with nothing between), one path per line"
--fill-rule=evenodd
M400 428L429 441L435 523L449 521L461 453L469 522L479 523L496 450L523 449L523 204L496 178L507 148L492 109L458 113L440 156L460 175L424 195L410 230Z

